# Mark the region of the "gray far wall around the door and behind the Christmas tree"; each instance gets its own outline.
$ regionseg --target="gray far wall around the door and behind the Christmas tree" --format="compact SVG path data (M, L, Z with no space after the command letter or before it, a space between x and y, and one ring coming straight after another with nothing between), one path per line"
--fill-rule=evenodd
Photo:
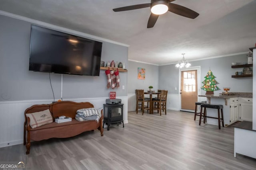
M221 57L215 59L206 59L200 61L190 62L191 66L201 66L201 82L205 79L206 73L212 70L214 76L216 76L217 86L219 91L214 94L221 93L223 87L230 87L230 92L252 92L252 77L250 78L231 78L235 75L236 71L242 71L242 68L231 68L231 63L243 63L247 62L246 54L235 55L229 57ZM159 66L159 88L167 89L168 93L178 94L178 74L179 69L175 68L175 64L166 66ZM203 84L200 84L200 87ZM201 90L201 94L205 94L204 90Z

